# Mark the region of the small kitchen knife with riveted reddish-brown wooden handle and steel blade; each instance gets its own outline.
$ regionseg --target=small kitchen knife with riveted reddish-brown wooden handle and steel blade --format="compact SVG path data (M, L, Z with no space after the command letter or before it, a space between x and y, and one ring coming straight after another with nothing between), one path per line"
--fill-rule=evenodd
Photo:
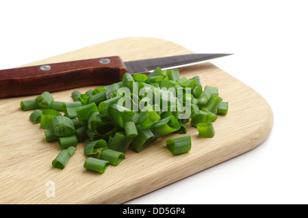
M188 54L130 62L112 56L0 70L0 98L108 85L121 81L125 72L136 74L149 73L157 67L162 70L179 68L226 55L231 54Z

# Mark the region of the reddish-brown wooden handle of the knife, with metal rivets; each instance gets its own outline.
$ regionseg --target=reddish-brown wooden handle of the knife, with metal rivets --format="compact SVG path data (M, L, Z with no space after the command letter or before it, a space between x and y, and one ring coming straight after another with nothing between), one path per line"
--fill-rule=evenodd
M125 72L118 56L0 70L0 98L112 84Z

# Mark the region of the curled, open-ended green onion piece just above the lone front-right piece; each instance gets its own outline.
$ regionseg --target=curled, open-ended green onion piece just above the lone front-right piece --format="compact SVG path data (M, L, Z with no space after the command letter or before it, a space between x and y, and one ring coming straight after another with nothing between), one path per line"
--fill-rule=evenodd
M174 115L170 115L170 117L159 120L153 124L153 126L151 126L151 131L159 136L163 136L178 131L179 128L179 121Z

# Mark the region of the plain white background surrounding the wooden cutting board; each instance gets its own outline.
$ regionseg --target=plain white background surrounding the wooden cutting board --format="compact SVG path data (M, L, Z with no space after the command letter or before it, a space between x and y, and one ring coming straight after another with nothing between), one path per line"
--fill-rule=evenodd
M241 156L128 204L307 204L307 1L0 1L0 69L127 37L170 40L263 96L274 126Z

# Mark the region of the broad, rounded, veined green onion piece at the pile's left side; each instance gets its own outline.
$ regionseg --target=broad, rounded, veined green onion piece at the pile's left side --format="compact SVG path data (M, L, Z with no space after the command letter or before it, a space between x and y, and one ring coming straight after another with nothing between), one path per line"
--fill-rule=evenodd
M75 133L75 126L70 118L57 115L53 118L53 130L58 137L64 137L73 135Z

